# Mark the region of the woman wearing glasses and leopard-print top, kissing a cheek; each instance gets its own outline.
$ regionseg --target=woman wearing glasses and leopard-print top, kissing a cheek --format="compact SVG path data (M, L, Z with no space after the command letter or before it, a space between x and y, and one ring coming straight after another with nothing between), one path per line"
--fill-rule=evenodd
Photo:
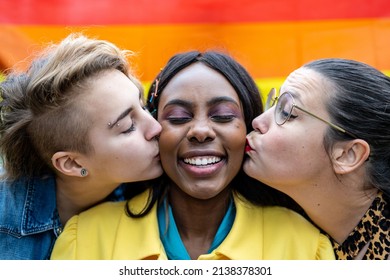
M322 59L292 72L268 102L247 136L244 171L295 199L337 259L389 259L390 79Z

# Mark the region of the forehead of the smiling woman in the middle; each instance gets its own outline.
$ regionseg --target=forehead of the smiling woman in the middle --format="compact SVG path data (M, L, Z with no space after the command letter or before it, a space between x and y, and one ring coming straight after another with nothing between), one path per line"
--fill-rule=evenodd
M160 102L168 99L211 99L216 96L229 96L239 102L235 89L222 74L202 63L195 63L169 81Z

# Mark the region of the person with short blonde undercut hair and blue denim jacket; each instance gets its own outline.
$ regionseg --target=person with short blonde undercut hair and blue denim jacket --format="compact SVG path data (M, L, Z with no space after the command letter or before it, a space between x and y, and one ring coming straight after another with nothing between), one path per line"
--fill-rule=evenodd
M70 217L161 175L128 53L70 35L1 83L1 259L48 259Z

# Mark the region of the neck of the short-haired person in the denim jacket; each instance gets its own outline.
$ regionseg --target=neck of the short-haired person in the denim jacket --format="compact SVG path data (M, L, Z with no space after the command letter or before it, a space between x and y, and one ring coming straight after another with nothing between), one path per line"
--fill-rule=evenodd
M57 209L61 223L107 197L116 186L100 186L88 178L56 178Z

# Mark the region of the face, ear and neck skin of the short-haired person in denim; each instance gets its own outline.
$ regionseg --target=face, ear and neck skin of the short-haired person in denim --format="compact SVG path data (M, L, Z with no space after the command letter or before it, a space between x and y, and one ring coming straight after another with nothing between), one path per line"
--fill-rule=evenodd
M81 110L92 118L89 139L93 152L60 152L57 177L62 221L101 201L123 182L162 174L156 136L160 124L143 109L139 89L118 70L105 71L87 83ZM57 154L58 155L58 154ZM80 168L88 175L82 177Z

